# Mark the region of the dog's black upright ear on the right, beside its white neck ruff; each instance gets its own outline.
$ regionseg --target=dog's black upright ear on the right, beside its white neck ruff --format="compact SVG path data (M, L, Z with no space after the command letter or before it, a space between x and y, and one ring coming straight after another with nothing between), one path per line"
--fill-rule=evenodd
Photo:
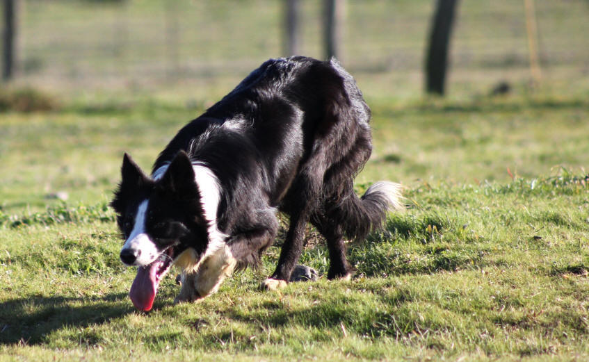
M200 199L192 162L186 152L179 151L163 174L161 185L180 199Z

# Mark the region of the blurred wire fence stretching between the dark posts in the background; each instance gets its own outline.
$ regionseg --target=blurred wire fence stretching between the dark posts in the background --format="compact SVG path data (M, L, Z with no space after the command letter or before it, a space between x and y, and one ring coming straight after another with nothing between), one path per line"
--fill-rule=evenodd
M300 53L321 58L321 1L301 1ZM432 11L430 0L346 1L342 63L355 74L420 83ZM15 81L92 89L241 77L287 55L283 12L279 0L22 0ZM589 1L536 0L535 16L543 74L587 79ZM453 35L456 81L529 76L524 1L462 0Z

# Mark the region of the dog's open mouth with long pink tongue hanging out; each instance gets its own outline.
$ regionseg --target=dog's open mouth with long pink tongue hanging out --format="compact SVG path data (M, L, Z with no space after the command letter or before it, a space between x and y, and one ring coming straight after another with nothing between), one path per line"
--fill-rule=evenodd
M161 279L172 267L174 248L169 247L150 265L139 267L129 297L136 308L150 311Z

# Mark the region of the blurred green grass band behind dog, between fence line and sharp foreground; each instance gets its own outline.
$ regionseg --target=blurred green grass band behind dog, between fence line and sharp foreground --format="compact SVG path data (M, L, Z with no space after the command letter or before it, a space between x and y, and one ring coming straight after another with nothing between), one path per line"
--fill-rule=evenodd
M375 147L358 183L379 179L458 183L586 174L587 98L524 97L464 101L377 101ZM52 113L5 113L0 122L3 213L42 211L65 191L69 202L111 197L124 151L149 170L164 145L203 102L79 99ZM509 169L509 171L508 171ZM419 182L416 180L420 180Z

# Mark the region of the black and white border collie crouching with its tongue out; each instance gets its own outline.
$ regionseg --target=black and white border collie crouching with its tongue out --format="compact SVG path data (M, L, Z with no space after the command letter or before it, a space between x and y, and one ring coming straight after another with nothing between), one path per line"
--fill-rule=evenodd
M266 288L286 286L307 222L327 240L328 278L349 278L344 237L364 238L401 207L396 183L354 193L353 179L371 154L369 118L336 60L272 59L184 126L151 176L125 154L111 205L126 240L120 258L138 267L134 305L152 308L172 264L182 270L175 302L215 293L272 245L278 211L290 225Z

